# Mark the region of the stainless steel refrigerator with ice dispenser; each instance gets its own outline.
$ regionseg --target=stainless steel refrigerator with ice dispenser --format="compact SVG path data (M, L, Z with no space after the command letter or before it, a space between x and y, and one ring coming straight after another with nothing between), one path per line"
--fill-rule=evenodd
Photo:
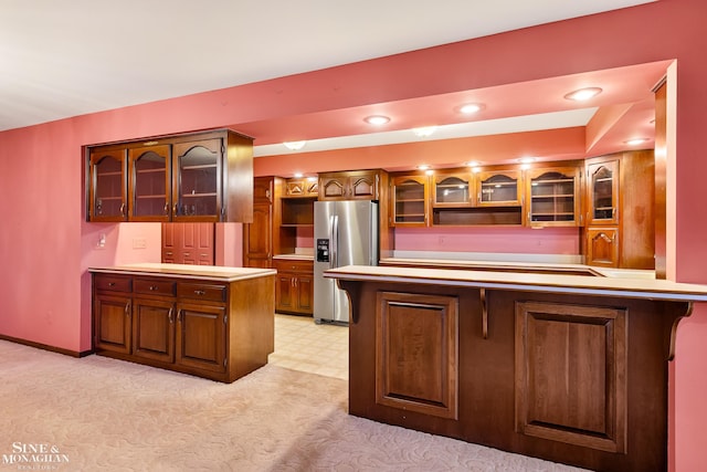
M324 271L344 265L378 265L378 202L314 203L314 321L349 322L346 293Z

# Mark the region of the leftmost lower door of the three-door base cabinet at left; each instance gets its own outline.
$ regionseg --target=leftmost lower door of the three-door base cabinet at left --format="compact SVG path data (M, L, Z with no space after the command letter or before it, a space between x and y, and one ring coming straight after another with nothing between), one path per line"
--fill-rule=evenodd
M129 296L96 295L94 298L95 347L130 354L131 316Z

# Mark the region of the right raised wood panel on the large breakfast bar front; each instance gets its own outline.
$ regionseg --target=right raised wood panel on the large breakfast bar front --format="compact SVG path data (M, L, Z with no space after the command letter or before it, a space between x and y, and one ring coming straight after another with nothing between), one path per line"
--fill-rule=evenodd
M518 302L516 430L624 452L626 352L624 310Z

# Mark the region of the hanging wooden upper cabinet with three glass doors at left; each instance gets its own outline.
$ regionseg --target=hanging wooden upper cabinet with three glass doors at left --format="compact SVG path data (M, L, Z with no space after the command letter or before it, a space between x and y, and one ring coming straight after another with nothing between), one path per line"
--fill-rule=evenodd
M253 140L228 129L87 147L88 221L252 218Z

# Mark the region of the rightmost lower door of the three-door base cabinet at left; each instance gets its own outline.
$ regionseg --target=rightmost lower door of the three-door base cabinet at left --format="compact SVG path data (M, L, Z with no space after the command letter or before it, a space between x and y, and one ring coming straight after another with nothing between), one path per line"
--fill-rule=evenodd
M177 364L225 371L225 308L178 305Z

